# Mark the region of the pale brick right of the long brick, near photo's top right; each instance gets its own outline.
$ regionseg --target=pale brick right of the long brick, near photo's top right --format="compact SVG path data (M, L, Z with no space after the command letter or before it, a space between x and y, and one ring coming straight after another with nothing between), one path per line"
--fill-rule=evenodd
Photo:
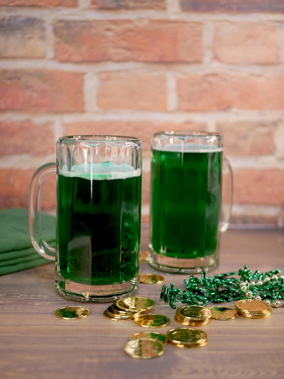
M264 23L216 24L214 55L223 63L280 62L280 27Z

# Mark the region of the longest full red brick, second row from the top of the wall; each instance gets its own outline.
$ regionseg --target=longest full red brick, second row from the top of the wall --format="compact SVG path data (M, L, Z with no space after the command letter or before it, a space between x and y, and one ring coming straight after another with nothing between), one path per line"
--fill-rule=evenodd
M62 62L201 62L202 25L183 21L56 21Z

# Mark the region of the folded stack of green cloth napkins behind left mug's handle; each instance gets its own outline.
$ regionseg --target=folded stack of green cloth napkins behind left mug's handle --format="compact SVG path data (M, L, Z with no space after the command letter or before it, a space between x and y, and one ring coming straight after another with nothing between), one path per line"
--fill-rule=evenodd
M43 237L52 247L55 246L55 225L55 217L42 213ZM0 210L0 275L50 262L32 246L28 210Z

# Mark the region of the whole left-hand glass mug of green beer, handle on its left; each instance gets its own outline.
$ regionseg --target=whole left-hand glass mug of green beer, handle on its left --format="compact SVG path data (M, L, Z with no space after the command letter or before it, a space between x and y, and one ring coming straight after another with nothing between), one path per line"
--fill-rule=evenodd
M114 301L137 289L140 252L141 141L86 135L58 139L56 161L33 175L30 234L56 262L56 289L73 300ZM40 195L57 173L56 249L43 239Z

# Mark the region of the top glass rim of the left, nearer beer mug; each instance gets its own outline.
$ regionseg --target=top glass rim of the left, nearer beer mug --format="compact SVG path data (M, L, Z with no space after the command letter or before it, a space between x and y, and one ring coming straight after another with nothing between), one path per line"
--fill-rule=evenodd
M113 139L107 139L107 138ZM58 142L65 141L78 141L78 142L97 142L97 143L126 143L126 142L136 142L141 144L142 140L140 138L125 136L125 135L105 135L105 134L82 134L82 135L66 135L58 139Z

